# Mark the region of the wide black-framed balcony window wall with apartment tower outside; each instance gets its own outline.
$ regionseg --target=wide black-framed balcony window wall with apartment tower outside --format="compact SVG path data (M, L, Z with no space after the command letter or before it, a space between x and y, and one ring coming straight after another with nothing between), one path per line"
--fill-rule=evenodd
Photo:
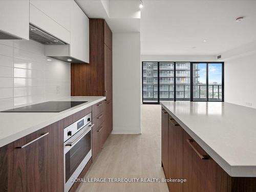
M142 62L143 103L224 101L223 62Z

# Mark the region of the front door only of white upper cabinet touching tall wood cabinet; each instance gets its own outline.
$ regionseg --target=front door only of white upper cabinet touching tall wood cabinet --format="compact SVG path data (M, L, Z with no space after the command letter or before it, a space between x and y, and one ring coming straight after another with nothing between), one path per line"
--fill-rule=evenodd
M89 18L73 2L70 28L70 55L89 63Z

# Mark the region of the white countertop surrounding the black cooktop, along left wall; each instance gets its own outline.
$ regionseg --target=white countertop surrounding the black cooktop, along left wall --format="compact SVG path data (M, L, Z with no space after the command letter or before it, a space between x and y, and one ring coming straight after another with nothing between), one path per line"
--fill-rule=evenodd
M67 97L55 101L88 101L62 112L0 112L0 147L29 135L60 119L88 108L105 97Z

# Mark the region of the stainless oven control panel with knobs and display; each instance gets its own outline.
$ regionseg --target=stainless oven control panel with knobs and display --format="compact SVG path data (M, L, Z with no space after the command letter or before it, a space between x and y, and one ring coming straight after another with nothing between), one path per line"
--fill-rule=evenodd
M92 113L82 117L71 125L67 126L64 129L64 142L67 141L70 137L75 135L82 127L86 126L92 120Z

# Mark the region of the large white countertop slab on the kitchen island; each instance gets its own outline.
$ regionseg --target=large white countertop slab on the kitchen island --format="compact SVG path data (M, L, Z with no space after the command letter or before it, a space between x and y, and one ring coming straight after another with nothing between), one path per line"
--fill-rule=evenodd
M230 176L256 177L256 109L227 102L160 104Z

